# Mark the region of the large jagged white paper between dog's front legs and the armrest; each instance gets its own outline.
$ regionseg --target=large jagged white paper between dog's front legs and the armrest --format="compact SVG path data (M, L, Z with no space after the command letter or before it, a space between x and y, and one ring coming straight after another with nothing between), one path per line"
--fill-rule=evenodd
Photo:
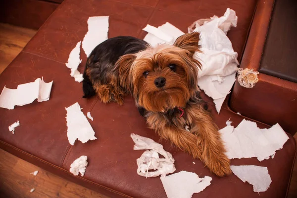
M269 159L276 150L283 148L289 139L279 124L270 129L259 129L257 124L243 120L237 128L229 125L219 131L225 142L229 159L257 157L259 161Z

